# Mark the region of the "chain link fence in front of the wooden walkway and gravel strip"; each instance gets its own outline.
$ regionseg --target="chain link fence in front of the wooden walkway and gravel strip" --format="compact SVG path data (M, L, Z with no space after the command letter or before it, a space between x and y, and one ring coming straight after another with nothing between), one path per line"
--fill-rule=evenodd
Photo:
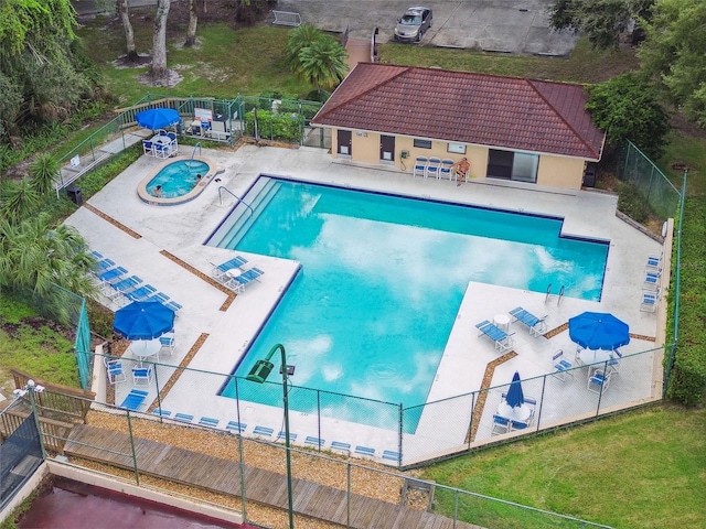
M23 403L33 408L34 400L26 396ZM41 439L49 456L63 455L54 460L57 464L63 461L125 483L206 500L239 511L248 522L263 527L286 526L284 489L290 485L295 520L303 520L300 516L317 517L312 515L315 503L307 501L310 486L303 486L304 483L320 484L321 495L335 496L335 514L331 516L347 527L360 527L361 501L439 514L458 522L458 527L468 527L467 523L498 528L608 527L362 464L352 457L352 450L292 446L287 473L287 449L281 439L246 436L78 396L72 396L72 400L73 408L90 407L84 421L74 423L72 429L42 428ZM23 435L22 429L28 428L24 424L35 423L23 423L12 435ZM23 451L31 450L30 446L36 451L40 446L36 430L32 439L32 443L22 443ZM41 461L41 450L38 454ZM279 493L274 494L274 489ZM263 509L261 504L279 509Z

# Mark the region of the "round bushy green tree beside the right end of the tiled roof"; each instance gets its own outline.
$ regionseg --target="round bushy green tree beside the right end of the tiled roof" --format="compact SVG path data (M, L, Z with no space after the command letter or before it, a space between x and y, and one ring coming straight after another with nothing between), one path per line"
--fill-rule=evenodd
M646 155L662 153L670 131L670 119L660 105L655 87L644 75L627 73L589 88L586 110L607 133L609 145L632 141Z

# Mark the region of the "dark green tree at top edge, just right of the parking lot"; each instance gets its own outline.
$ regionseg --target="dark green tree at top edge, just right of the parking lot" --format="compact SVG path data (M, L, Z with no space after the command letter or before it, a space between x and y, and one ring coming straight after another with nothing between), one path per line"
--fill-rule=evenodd
M597 48L617 47L635 18L648 19L654 0L557 0L547 9L557 31L585 33Z

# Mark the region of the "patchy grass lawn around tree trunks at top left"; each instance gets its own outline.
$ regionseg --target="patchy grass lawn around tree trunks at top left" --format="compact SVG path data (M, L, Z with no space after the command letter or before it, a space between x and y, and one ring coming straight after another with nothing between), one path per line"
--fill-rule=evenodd
M138 53L151 48L151 24L135 24ZM110 31L106 31L109 29ZM174 87L150 87L139 82L149 65L118 67L116 60L125 53L125 36L115 22L97 18L77 31L88 54L96 61L109 90L120 105L128 106L146 94L170 96L205 96L235 99L271 94L278 90L298 98L313 87L292 76L284 63L282 50L288 30L254 26L233 31L226 23L199 23L196 46L183 47L184 32L168 39L168 67L183 79ZM175 33L175 32L174 32Z

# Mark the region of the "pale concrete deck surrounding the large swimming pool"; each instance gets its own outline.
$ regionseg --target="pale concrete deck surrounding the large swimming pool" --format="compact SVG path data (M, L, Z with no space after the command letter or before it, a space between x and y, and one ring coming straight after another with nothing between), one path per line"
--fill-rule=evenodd
M457 186L456 182L413 179L410 172L404 173L394 168L364 166L334 160L325 150L313 148L244 145L235 152L204 150L204 156L222 165L225 171L218 176L220 182L211 181L194 201L173 207L157 207L143 203L135 191L137 184L161 161L141 156L94 195L87 202L87 207L81 207L66 220L66 224L81 231L92 249L109 257L117 264L127 268L130 274L139 276L146 283L183 305L175 324L176 349L171 356L160 357L164 364L157 370L160 385L164 385L173 371L169 365L178 365L195 344L194 350L197 348L197 352L189 367L223 374L182 374L162 401L162 408L173 413L192 414L196 422L201 417L210 417L218 420L220 428L224 428L228 421L239 420L248 425L246 433L250 433L255 425L272 428L272 440L284 429L280 409L248 403L236 410L233 399L218 397L214 391L226 380L226 375L257 335L263 322L297 273L299 263L238 251L248 259L248 266L260 268L265 276L259 283L248 285L229 305L228 294L203 278L204 274L210 276L212 262L225 261L233 255L231 250L203 246L235 204L235 198L229 193L243 196L260 173L559 216L565 218L565 235L610 241L600 302L564 298L558 303L558 298L553 295L545 303L545 293L469 283L430 389L429 401L478 391L483 386L483 379L489 376L490 387L509 384L515 370L525 380L541 377L552 371L550 357L559 348L574 361L576 346L569 339L568 331L561 331L561 326L569 317L584 311L611 312L629 323L633 339L621 348L623 355L655 346L654 338L659 334L657 314L641 312L640 301L646 256L660 253L661 245L616 216L614 195L486 179L477 179ZM221 191L221 186L227 192ZM557 293L558 285L555 285L554 294ZM474 325L483 320L492 320L496 314L506 314L518 305L536 315L547 314L547 326L549 330L557 330L556 335L550 339L535 338L526 327L515 323L511 326L511 332L515 333L513 350L516 356L498 363L495 360L502 354L494 349L491 341L478 335ZM631 369L648 369L650 376L632 377L621 373L602 396L606 402L610 403L611 398L622 402L629 396L633 396L633 400L645 399L654 385L653 364L656 363L652 354L634 360ZM490 375L489 365L493 365ZM577 375L566 382L554 378L549 380L546 388L535 387L533 380L523 382L525 393L533 397L539 397L538 392L555 392L556 398L547 399L547 406L543 409L545 417L550 417L550 402L554 401L557 418L566 413L567 407L575 407L574 411L578 414L590 412L591 407L596 407L598 396L587 391L585 375ZM292 384L297 384L296 377ZM129 382L120 385L116 391L116 401L120 402L129 389ZM152 387L150 402L156 395ZM492 421L499 399L500 390L489 393L485 411L477 425L477 439L490 436L492 422L489 421ZM469 397L468 401L457 399L453 406L458 407L457 421L451 420L448 414L457 414L452 408L442 413L432 413L431 410L422 413L417 434L405 435L405 460L408 455L414 457L415 453L421 456L430 445L439 450L463 445L469 410L473 402ZM434 406L429 408L434 409ZM325 430L320 431L315 417L296 410L290 414L290 422L291 431L298 434L297 444L302 444L306 436L321 436L327 440L327 446L331 441L346 442L352 446L360 444L375 447L378 455L384 450L398 449L395 431L357 424L351 428L350 423L343 421L330 421Z

